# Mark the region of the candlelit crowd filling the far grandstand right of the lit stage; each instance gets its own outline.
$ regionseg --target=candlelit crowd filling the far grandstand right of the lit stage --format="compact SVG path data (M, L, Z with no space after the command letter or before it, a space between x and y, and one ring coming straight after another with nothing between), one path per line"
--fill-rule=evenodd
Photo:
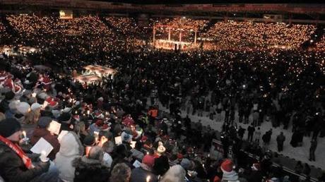
M218 22L205 33L216 49L298 49L310 39L315 25L284 23Z

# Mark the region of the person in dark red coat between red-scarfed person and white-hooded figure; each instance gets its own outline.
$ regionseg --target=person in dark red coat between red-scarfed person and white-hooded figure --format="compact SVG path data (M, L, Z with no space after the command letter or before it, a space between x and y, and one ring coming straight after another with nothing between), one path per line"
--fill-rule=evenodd
M30 143L32 145L35 145L40 138L44 138L49 142L53 150L51 153L49 153L49 159L54 160L55 155L60 150L60 143L59 140L57 140L57 136L52 135L47 128L49 127L49 123L51 123L52 119L50 117L41 117L40 120L37 123L37 128L32 132L32 138L30 139Z

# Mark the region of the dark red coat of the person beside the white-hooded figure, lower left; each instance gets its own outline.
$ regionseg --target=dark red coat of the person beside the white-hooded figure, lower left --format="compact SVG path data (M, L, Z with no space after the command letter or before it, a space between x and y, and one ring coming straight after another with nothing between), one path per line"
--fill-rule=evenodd
M44 138L45 140L47 140L47 142L49 142L49 144L52 145L53 150L51 153L49 153L48 157L49 159L54 160L55 155L57 154L57 152L59 152L60 149L60 144L59 140L57 140L57 136L51 135L51 133L47 131L46 128L35 128L34 132L32 133L30 143L32 145L35 145L35 143L37 143L40 138Z

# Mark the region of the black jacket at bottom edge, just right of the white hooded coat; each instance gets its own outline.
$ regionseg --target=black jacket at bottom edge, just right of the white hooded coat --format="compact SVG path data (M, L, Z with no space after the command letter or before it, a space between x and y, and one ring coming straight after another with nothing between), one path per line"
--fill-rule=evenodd
M75 182L107 182L110 177L110 169L96 159L78 157L73 160L72 166L76 167L73 180Z

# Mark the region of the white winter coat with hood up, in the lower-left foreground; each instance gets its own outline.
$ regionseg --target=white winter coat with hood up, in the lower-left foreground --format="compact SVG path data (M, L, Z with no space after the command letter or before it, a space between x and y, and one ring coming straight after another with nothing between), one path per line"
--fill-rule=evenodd
M60 150L57 152L54 164L59 170L59 178L63 181L73 181L75 167L72 166L73 159L83 155L83 145L76 133L69 132L62 137Z

